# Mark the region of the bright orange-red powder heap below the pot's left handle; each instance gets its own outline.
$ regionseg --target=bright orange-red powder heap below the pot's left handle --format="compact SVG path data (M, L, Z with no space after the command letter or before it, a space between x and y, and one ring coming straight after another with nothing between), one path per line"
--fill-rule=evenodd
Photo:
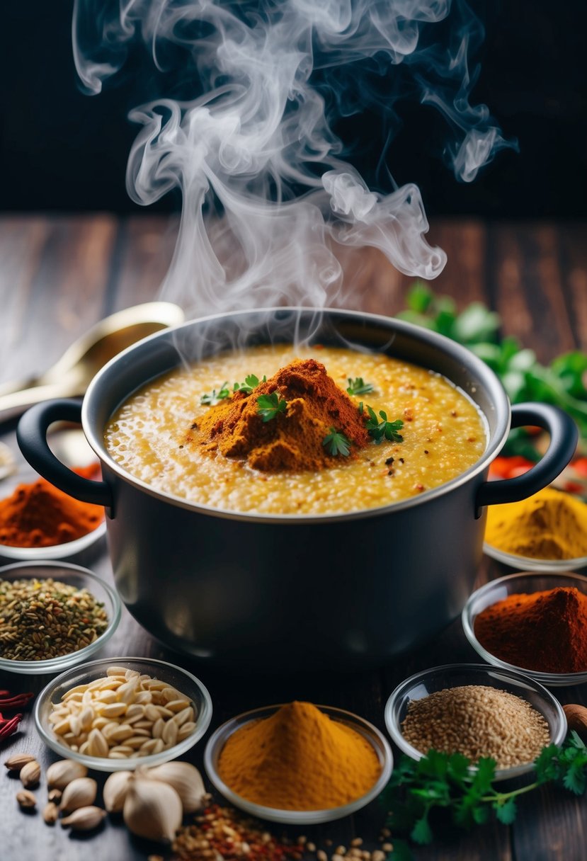
M75 472L95 478L99 466L77 468ZM11 547L52 547L81 538L102 523L100 505L78 502L46 479L21 484L0 500L0 544Z

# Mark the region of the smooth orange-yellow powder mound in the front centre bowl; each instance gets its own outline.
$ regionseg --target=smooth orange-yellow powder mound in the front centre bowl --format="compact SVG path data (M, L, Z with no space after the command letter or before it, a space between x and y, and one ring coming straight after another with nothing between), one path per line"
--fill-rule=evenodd
M244 724L222 748L219 775L239 796L280 810L327 810L364 796L381 766L367 739L312 703L287 703Z

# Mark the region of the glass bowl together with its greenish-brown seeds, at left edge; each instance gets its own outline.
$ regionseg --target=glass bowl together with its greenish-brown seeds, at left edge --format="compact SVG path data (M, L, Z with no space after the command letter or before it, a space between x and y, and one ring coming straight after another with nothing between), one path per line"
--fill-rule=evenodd
M97 574L66 562L0 568L0 670L61 672L108 642L120 598Z

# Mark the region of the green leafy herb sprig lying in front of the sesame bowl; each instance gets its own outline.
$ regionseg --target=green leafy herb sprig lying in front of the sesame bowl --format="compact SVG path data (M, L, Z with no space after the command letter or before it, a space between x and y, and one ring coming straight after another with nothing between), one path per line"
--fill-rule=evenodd
M402 756L382 794L390 811L388 826L393 833L392 861L412 858L410 843L429 844L434 839L430 814L437 808L447 811L454 825L470 828L488 821L491 813L510 825L516 819L516 798L547 783L562 784L575 795L587 788L587 747L572 732L562 746L544 747L534 760L534 783L500 792L493 781L493 759L479 759L469 771L467 757L435 750L416 761ZM402 839L399 835L405 835Z

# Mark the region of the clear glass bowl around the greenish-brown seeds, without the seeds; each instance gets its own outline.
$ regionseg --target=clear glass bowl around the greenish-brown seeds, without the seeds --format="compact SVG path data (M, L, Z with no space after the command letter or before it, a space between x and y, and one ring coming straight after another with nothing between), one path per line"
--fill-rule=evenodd
M96 638L88 646L77 649L76 652L68 652L55 658L46 660L11 660L0 656L0 670L8 672L19 672L23 674L40 674L45 672L62 672L69 666L81 664L88 660L104 646L120 622L120 598L111 585L108 585L102 577L82 568L71 565L68 562L15 562L0 568L0 579L24 580L24 579L48 579L60 580L77 589L87 589L101 604L108 615L108 628L102 635Z

